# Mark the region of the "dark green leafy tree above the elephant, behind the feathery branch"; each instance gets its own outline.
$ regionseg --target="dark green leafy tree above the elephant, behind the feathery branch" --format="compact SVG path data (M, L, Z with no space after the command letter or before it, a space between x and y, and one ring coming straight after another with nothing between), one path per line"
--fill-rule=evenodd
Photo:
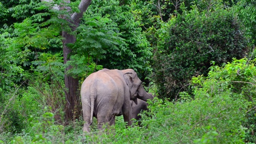
M150 44L142 34L140 22L136 21L128 4L120 5L117 0L92 1L86 17L101 16L112 22L112 30L118 37L124 39L125 44L106 49L105 58L98 62L104 68L125 69L133 68L141 77L142 72L149 72ZM120 42L120 40L116 41Z

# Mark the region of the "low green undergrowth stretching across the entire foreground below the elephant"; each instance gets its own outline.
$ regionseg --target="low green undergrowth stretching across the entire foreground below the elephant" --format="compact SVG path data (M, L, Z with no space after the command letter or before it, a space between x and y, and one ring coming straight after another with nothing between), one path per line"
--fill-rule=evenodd
M247 59L234 59L224 67L212 66L207 77L192 78L194 99L187 92L180 93L180 99L176 102L154 98L153 102L149 102L149 112L142 114L142 127L125 128L123 118L120 116L116 119L115 130L98 132L94 119L92 132L85 133L83 138L82 121L76 120L69 126L56 124L50 107L45 106L39 118L30 118L32 125L30 131L22 131L14 135L2 133L0 142L24 144L63 142L68 144L244 144L253 142L256 98L255 63L256 59L251 62Z

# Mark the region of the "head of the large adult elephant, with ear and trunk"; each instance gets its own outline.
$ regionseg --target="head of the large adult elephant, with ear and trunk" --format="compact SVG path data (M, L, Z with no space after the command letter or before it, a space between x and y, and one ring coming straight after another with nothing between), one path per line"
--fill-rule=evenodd
M136 72L132 69L122 70L124 72L124 80L130 88L130 100L133 100L135 104L138 104L137 98L147 101L148 99L152 100L152 94L145 92L142 87L142 82L138 78Z

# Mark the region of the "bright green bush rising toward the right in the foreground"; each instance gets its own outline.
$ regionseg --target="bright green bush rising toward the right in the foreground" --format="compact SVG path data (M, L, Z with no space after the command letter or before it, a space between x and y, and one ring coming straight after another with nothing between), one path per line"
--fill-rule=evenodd
M87 142L243 144L248 136L244 124L250 107L246 92L255 89L252 63L242 59L223 68L212 66L208 77L192 79L194 99L187 92L182 92L177 102L155 98L148 106L150 111L142 114L142 128L116 127L110 134L86 136ZM240 79L242 88L239 90L235 87L238 82L234 81L238 78L235 75L238 69L240 77L244 78ZM254 90L250 94L255 93Z

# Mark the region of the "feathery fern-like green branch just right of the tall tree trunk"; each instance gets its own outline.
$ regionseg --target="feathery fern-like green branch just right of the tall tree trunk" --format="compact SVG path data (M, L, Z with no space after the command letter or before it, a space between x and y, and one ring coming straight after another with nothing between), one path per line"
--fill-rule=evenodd
M106 58L106 52L118 50L118 46L125 45L120 38L117 25L109 18L93 16L84 18L84 23L77 28L76 52L84 56L91 56L94 60ZM109 50L110 49L110 50ZM120 50L125 51L125 50ZM114 53L114 52L113 52ZM121 55L116 52L117 55Z

